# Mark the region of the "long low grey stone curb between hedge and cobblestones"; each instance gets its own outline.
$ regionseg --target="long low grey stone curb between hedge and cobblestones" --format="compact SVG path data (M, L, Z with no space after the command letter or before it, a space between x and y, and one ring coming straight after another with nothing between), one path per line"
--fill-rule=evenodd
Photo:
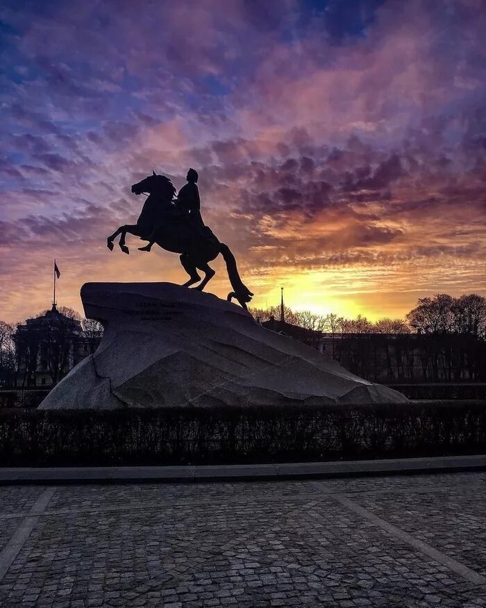
M486 470L486 455L346 462L221 466L0 468L0 485L97 482L208 482L245 479L332 479L360 475L410 475Z

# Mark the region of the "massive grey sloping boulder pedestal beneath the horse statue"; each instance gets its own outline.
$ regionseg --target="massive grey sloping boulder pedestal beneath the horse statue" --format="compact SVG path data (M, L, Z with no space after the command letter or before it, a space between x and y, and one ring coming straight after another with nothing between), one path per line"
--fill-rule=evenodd
M88 283L81 298L85 315L103 323L103 340L40 409L407 401L210 293Z

